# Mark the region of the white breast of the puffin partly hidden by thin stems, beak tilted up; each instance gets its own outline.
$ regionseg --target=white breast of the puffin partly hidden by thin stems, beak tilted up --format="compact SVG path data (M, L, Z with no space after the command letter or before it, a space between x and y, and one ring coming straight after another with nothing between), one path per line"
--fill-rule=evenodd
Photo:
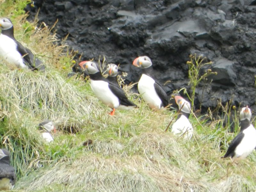
M190 139L192 137L193 127L186 116L181 115L172 125L172 133L184 134L184 139Z

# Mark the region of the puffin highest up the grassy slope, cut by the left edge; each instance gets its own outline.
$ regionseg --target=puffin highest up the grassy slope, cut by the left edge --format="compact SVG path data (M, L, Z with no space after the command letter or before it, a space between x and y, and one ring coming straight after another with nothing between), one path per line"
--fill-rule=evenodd
M10 19L0 19L0 28L0 58L17 68L27 68L32 71L45 70L42 61L15 39Z

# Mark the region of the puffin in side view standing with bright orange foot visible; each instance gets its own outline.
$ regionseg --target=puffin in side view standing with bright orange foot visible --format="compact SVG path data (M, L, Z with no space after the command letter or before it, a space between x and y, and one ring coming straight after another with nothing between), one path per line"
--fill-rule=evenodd
M94 62L87 61L85 68L90 75L92 91L102 103L112 108L112 111L109 113L111 116L115 114L116 109L129 110L137 108L137 105L128 100L124 91L119 86L116 86L102 76Z

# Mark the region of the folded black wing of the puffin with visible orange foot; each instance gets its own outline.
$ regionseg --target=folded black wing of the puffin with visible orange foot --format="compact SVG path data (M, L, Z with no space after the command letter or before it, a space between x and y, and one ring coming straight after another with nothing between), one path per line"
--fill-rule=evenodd
M137 107L137 105L135 105L126 97L124 90L121 87L117 87L115 84L112 83L108 83L108 87L119 99L120 105Z

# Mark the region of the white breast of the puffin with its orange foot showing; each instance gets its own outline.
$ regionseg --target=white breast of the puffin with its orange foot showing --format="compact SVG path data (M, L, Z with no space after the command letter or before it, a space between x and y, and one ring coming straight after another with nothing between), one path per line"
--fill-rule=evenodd
M91 87L96 97L110 108L119 107L119 100L108 88L105 81L95 81L91 79Z

